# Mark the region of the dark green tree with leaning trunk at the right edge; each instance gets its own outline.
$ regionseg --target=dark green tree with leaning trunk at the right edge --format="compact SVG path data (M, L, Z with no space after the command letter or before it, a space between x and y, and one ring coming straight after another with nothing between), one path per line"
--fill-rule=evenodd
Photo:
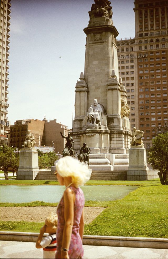
M153 139L149 150L149 163L153 168L159 169L161 184L168 185L168 132Z

